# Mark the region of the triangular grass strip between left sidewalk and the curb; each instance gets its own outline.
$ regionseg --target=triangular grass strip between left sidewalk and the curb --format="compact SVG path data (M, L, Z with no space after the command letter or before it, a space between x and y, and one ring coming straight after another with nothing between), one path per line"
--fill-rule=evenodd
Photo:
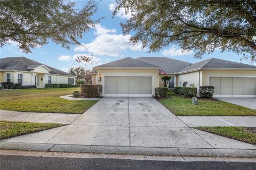
M56 128L64 124L0 121L0 139Z

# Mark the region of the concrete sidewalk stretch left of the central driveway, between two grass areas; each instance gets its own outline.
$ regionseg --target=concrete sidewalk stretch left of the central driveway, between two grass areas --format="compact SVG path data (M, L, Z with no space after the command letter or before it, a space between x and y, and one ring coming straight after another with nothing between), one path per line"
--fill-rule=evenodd
M0 110L1 121L70 124L81 114L34 113Z

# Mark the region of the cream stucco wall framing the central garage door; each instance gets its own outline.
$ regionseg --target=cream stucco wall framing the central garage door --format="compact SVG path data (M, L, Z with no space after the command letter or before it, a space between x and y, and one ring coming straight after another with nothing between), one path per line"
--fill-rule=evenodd
M97 76L99 77L99 74L101 74L101 77L105 75L133 75L133 76L143 76L143 75L153 75L153 86L154 88L159 87L159 77L157 79L158 75L158 69L95 69L97 70L98 74ZM97 84L102 84L101 82L96 82Z

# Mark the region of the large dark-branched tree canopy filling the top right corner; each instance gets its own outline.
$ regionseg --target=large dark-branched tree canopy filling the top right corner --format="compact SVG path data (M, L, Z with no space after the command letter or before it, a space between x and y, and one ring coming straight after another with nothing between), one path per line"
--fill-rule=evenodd
M256 61L255 0L116 0L131 18L121 23L124 33L135 32L131 44L157 52L171 43L195 51L196 58L214 49L233 51Z

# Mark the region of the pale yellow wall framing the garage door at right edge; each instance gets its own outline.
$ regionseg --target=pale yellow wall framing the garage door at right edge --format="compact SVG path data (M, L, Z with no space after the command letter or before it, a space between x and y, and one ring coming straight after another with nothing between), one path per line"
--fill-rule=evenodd
M209 77L256 77L256 70L203 70L202 84L209 86Z

